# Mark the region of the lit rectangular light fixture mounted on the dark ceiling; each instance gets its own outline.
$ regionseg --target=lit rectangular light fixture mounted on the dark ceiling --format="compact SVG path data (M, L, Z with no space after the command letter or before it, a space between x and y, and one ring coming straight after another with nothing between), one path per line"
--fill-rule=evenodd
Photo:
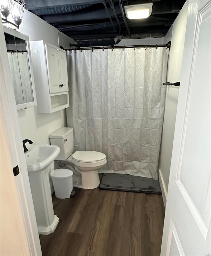
M130 20L146 19L152 14L152 3L124 6L126 17Z

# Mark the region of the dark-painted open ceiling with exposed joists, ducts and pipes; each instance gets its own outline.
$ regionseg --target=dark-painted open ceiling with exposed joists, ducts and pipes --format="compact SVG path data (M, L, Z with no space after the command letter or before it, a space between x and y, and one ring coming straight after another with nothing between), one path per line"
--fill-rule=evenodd
M185 1L178 0L25 0L26 9L79 46L114 45L122 38L162 37L173 24ZM153 3L152 15L129 20L124 6Z

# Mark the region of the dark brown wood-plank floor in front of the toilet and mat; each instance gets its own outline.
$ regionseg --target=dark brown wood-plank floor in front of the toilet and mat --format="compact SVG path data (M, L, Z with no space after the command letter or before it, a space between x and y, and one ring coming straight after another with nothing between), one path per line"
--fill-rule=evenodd
M56 230L40 235L43 255L160 255L165 208L161 195L75 188L57 199Z

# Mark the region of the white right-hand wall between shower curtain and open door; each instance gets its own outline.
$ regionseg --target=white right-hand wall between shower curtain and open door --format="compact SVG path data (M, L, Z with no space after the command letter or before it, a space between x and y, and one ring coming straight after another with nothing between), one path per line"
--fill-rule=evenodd
M168 62L167 81L172 83L180 81L183 49L185 42L186 22L188 13L188 3L186 2L164 37L164 44L171 41L171 49ZM173 146L174 128L176 121L177 101L179 87L167 86L166 106L164 114L164 126L161 140L161 150L159 159L159 180L162 187L164 204L166 204L168 180L171 165L171 154Z

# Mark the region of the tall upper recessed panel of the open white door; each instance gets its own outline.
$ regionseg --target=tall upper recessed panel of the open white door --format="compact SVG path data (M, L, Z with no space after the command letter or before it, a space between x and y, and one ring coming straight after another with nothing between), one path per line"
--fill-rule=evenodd
M203 214L210 181L210 61L211 34L210 8L201 14L198 42L194 57L195 67L192 69L192 88L189 93L187 125L184 138L184 152L181 159L181 179L197 209ZM209 47L206 47L209 46ZM207 58L208 57L208 58ZM207 59L206 65L201 65ZM194 124L194 127L193 127ZM204 150L206 149L206 150ZM193 161L193 159L195 161ZM199 182L200 180L200 182ZM197 187L197 189L196 189ZM201 198L198 197L200 193Z

